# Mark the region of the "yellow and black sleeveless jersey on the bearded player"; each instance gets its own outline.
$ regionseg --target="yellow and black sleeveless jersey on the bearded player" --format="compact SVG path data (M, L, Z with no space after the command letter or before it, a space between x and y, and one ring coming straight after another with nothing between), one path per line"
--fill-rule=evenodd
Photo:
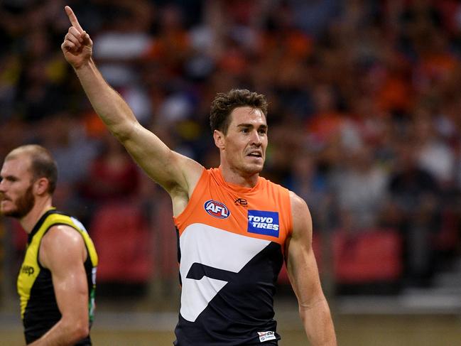
M33 227L31 234L28 235L26 255L24 256L18 275L17 287L21 301L21 318L23 320L26 343L28 344L45 334L61 318L55 298L51 272L43 268L38 260L41 239L48 232L48 229L55 225L67 225L76 229L85 241L88 256L84 265L89 293L90 326L93 320L96 267L98 261L94 244L80 221L74 217L64 215L54 210L54 208L50 209L40 217L40 220ZM91 345L90 335L76 345Z

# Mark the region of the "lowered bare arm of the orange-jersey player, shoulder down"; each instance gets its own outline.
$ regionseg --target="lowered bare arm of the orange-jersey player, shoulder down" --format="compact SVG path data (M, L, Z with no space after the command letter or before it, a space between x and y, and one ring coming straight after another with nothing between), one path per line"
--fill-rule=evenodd
M298 298L305 333L313 346L336 346L330 308L312 249L312 218L305 201L290 193L293 234L286 248L288 277Z

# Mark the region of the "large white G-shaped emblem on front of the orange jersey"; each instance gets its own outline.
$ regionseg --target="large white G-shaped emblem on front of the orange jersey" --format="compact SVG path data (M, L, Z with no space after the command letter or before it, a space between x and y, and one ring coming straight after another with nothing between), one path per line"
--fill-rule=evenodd
M245 237L216 227L195 223L185 228L180 237L180 275L183 283L180 314L194 322L227 281L204 276L187 279L194 263L238 273L271 242Z

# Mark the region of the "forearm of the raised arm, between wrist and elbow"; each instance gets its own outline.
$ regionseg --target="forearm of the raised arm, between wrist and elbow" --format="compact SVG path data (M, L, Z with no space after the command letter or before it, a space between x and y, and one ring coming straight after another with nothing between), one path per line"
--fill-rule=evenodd
M137 122L129 105L107 84L92 59L75 72L94 111L117 138L126 139Z

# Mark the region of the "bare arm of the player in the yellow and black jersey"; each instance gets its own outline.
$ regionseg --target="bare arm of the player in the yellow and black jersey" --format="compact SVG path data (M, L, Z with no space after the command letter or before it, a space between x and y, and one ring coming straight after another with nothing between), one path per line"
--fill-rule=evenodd
M84 268L87 256L82 236L72 227L53 226L43 236L39 259L51 271L55 297L62 317L31 345L75 345L90 333L88 287Z

